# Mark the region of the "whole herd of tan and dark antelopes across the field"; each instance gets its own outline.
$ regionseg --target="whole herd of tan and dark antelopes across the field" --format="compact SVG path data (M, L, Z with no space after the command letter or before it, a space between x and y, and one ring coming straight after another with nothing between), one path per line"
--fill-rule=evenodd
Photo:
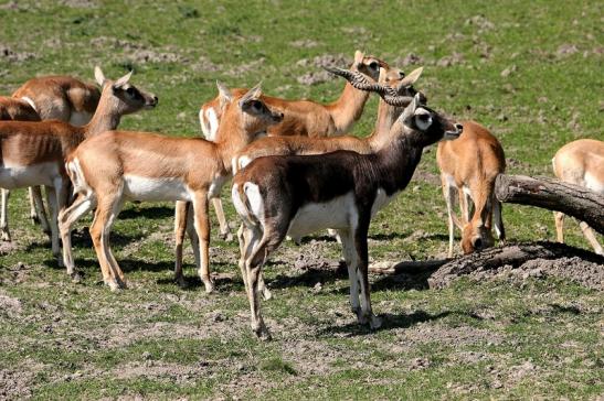
M187 234L199 275L211 292L209 202L221 235L231 240L220 196L232 178L232 202L242 220L239 265L256 335L269 336L259 312L259 295L271 297L262 278L266 259L287 236L298 240L322 229L335 230L341 242L359 323L379 327L368 282L371 218L406 187L423 149L438 142L449 257L455 227L465 253L492 246L491 228L505 240L501 204L494 196L495 178L506 169L504 150L477 122L454 121L427 107L413 86L422 68L405 75L357 51L350 68L327 69L347 79L341 96L328 105L268 97L259 85L230 90L219 83L218 97L199 111L205 139L117 130L123 116L158 104L155 95L130 84L131 73L112 80L96 67L100 90L68 76L27 82L11 97L0 97L1 239L11 240L9 191L29 187L31 218L50 232L60 265L80 280L71 230L94 210L89 232L103 281L124 289L127 281L109 245L124 203L172 201L176 280L184 282ZM346 134L371 93L381 98L373 132L365 138ZM566 144L555 154L553 170L560 180L604 194L604 142ZM555 214L560 241L562 221L563 215ZM581 228L602 254L590 227L582 223Z

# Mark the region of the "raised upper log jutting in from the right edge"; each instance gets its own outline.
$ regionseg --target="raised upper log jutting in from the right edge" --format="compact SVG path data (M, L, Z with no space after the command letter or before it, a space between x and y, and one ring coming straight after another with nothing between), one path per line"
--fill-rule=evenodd
M499 174L495 195L500 202L562 212L604 235L604 196L582 186L547 177Z

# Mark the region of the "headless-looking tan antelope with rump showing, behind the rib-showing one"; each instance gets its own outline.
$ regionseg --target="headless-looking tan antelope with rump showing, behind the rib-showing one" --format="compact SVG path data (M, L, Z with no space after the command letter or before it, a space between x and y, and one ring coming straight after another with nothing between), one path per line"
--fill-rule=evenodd
M61 120L72 126L84 126L93 117L100 90L70 76L42 76L28 80L12 94L14 102L19 102L28 115L35 118L0 118L2 120ZM1 100L0 100L1 102ZM1 113L1 112L0 112ZM8 207L9 191L2 191L2 212ZM30 218L40 221L42 229L50 234L44 204L39 186L29 188Z

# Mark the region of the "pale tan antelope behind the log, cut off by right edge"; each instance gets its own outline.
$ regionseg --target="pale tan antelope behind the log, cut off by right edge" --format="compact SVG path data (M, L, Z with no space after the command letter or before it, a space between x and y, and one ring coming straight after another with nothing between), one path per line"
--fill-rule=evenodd
M552 164L553 173L560 181L581 185L604 195L604 142L580 139L566 143L555 152ZM564 214L554 212L553 215L558 241L564 242ZM585 221L581 221L580 226L595 253L604 254L593 229Z

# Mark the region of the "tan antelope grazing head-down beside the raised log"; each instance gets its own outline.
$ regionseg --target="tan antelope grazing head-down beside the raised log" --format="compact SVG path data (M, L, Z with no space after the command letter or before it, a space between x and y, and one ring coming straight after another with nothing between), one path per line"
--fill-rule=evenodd
M454 230L462 230L462 250L470 253L491 247L491 227L506 239L501 203L495 197L495 178L506 170L501 144L485 127L462 121L464 132L454 141L438 143L436 161L448 213L448 257L453 256ZM458 194L460 220L453 210Z

